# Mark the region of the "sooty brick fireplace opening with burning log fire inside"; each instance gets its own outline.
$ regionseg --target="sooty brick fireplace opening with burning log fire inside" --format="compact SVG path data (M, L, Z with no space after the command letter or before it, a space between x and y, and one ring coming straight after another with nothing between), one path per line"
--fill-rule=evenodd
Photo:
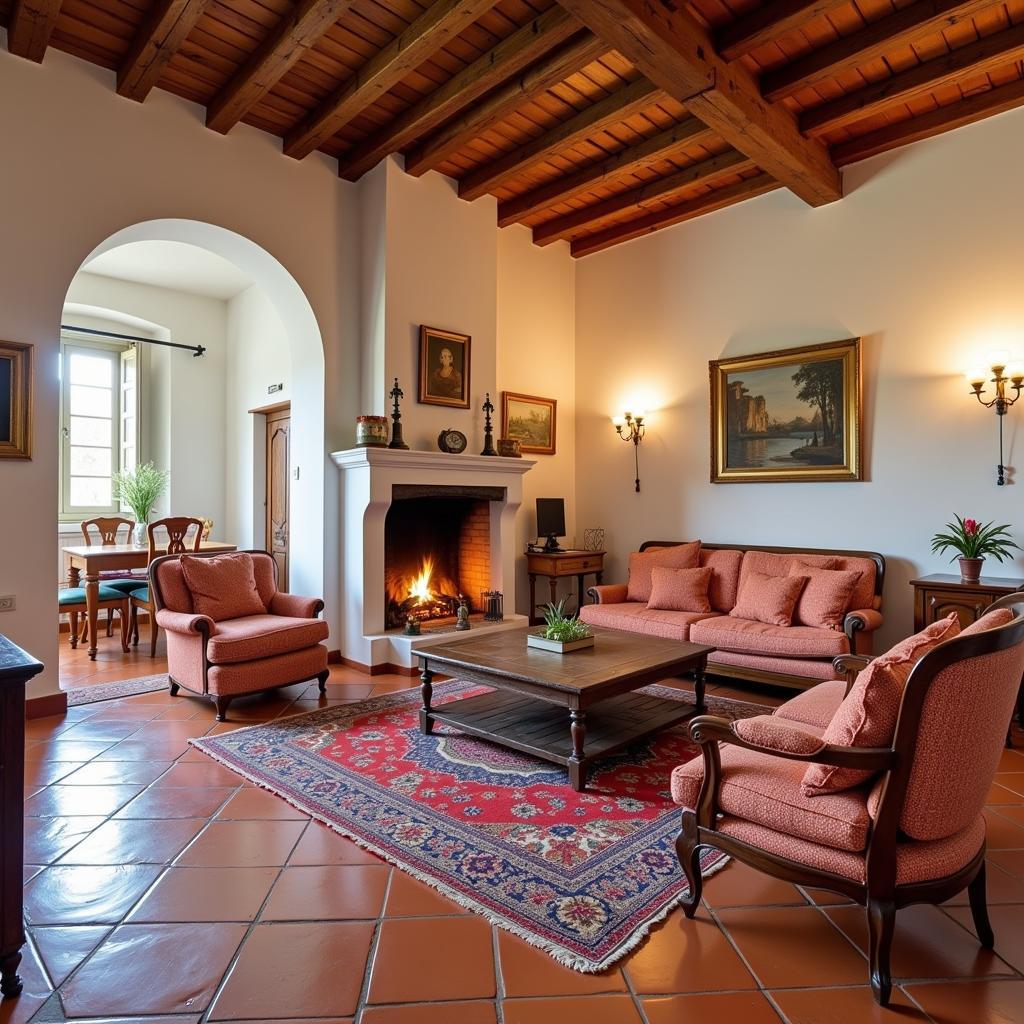
M490 503L503 487L395 485L384 522L384 625L479 611L490 589Z

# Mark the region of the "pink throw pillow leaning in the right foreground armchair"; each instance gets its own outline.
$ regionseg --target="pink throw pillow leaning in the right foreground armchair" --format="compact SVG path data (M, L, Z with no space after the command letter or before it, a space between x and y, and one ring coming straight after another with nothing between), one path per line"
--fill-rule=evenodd
M900 703L913 667L930 650L959 633L959 620L951 611L920 633L901 640L874 658L856 678L821 736L837 746L888 746L896 732ZM811 765L804 774L806 797L840 793L869 779L874 773L862 768Z

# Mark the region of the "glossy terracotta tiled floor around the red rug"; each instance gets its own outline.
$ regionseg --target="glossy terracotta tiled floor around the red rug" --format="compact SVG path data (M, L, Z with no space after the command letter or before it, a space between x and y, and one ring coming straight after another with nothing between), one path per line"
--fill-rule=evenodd
M71 685L165 667L81 660ZM336 670L328 699L411 683ZM988 810L997 952L964 899L903 911L884 1013L862 912L835 898L730 864L695 921L675 912L615 970L581 975L187 745L315 707L300 685L218 726L206 703L152 693L29 723L26 990L0 1022L1024 1024L1024 753L1006 753Z

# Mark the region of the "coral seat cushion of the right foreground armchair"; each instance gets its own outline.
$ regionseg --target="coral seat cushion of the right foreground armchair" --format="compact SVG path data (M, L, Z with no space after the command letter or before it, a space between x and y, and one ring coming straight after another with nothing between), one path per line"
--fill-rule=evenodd
M810 733L811 727L804 726ZM867 846L870 819L867 796L861 791L807 797L801 791L806 765L771 754L725 745L721 750L722 785L719 806L769 828L859 853ZM703 758L694 758L672 773L672 799L694 808L703 779Z

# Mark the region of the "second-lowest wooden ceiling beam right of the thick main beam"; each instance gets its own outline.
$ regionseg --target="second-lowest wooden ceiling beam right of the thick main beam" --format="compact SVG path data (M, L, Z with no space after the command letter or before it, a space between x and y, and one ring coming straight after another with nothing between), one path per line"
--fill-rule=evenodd
M805 111L804 131L820 133L864 118L914 96L949 85L967 75L980 75L1024 57L1024 25L985 36L967 46L926 60L889 78L871 82L855 92Z

